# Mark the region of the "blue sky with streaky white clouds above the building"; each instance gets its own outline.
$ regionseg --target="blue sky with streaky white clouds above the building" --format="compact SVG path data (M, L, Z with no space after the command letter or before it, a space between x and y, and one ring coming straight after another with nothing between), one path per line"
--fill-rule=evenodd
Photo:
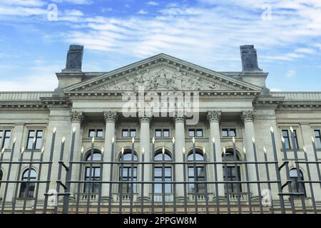
M54 90L73 43L83 71L158 53L240 71L253 44L268 88L320 90L320 14L320 0L1 0L0 90Z

